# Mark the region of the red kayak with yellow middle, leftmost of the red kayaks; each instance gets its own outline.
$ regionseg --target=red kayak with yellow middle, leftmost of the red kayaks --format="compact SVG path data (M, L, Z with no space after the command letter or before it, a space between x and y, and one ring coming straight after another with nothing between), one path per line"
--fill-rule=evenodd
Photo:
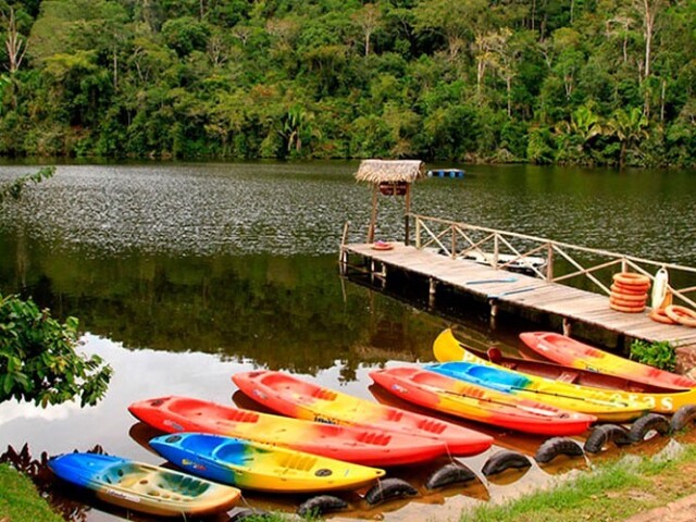
M365 465L411 464L447 452L445 444L434 439L288 419L189 397L141 400L128 411L167 433L212 433Z

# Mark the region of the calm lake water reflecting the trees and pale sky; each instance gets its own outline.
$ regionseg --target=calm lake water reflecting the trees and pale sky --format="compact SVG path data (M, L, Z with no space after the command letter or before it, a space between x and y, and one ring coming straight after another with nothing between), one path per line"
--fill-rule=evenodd
M94 408L0 405L0 443L17 449L28 444L35 457L100 445L112 455L160 463L141 443L149 433L126 410L133 401L189 395L249 406L231 375L257 368L374 400L380 394L368 372L433 360L432 341L447 326L476 347L517 349L517 334L529 326L521 322L493 327L473 309L433 313L418 299L395 299L339 276L344 223L351 223L348 239L362 241L370 216L370 189L356 183L357 167L60 165L21 202L7 202L0 208L0 289L32 296L60 318L79 318L80 349L102 356L114 376ZM418 183L412 210L696 265L696 172L464 169L461 179ZM0 183L36 170L0 165ZM402 199L381 199L378 238L401 238L402 211ZM499 446L531 455L540 443L495 434ZM487 456L464 460L477 471ZM462 507L497 501L554 476L534 467L513 485L423 494L351 517L419 520L423 505L433 505L433 517L456 518ZM246 497L251 506L297 506L297 499ZM77 506L73 520L123 515Z

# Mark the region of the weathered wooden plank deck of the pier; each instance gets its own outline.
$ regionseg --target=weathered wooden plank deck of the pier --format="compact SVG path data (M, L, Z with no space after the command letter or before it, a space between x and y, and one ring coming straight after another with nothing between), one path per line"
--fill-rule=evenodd
M373 273L388 277L390 270L419 275L430 282L430 291L447 285L487 301L495 315L506 310L532 310L560 318L570 334L573 324L600 328L626 339L667 340L679 352L696 353L696 328L652 321L644 313L622 313L609 308L606 295L577 289L532 275L496 270L474 261L394 243L391 250L375 250L372 244L341 245L341 259L362 258ZM349 264L349 263L348 263ZM686 356L688 357L688 356ZM692 356L693 357L693 356Z

